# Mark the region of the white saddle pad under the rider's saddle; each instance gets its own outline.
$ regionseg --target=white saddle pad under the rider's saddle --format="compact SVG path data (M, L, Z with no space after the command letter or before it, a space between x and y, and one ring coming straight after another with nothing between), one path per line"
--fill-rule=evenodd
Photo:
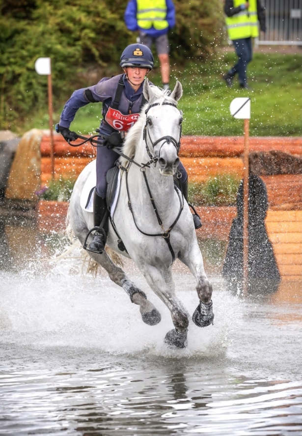
M83 210L85 210L86 212L92 213L93 212L93 196L94 196L94 191L95 191L95 186L96 186L96 161L94 160L94 161L90 162L90 164L88 164L87 167L88 166L91 166L91 171L90 171L90 174L89 174L89 176L88 176L88 178L85 181L85 184L83 186L83 189L81 192L80 204L81 204L81 207ZM119 187L120 187L120 173L118 174L116 190L115 190L114 198L113 198L111 208L110 208L111 217L113 217L115 206L117 203L118 194L119 194Z

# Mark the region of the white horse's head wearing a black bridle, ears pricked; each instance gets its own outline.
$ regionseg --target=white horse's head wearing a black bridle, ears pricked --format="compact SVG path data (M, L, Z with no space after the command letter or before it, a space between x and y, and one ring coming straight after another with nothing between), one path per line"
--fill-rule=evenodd
M145 111L144 140L148 149L158 158L163 175L173 175L179 164L183 117L176 105L182 92L178 81L171 93L150 86L148 80L145 80L143 87L144 96L149 101Z

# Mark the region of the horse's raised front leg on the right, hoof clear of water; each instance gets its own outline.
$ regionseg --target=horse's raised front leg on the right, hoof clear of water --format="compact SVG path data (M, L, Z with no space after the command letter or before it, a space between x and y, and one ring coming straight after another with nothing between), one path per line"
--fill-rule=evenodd
M200 301L193 313L192 320L198 327L207 327L213 324L214 320L213 302L211 300L212 284L206 276L197 241L180 260L190 268L197 281L196 291Z

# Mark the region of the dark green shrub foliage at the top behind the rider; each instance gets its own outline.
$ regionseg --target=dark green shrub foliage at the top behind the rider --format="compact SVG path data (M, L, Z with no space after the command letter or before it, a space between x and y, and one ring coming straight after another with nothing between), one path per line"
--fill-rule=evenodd
M174 0L171 57L184 63L205 57L220 35L220 0ZM127 0L0 0L0 128L16 129L18 120L47 109L47 79L35 73L40 57L52 59L54 102L61 105L77 87L86 86L89 67L103 73L118 63L122 50L136 41L124 24Z

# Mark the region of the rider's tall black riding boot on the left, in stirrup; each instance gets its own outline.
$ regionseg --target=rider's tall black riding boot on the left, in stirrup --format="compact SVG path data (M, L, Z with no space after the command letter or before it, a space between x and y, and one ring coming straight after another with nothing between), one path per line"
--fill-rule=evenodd
M106 217L106 214L108 215L106 199L99 197L95 190L93 197L93 221L94 227L98 227L99 230L96 230L94 233L93 239L87 248L88 251L102 254L105 249L108 233L108 216ZM104 219L105 222L102 223Z

